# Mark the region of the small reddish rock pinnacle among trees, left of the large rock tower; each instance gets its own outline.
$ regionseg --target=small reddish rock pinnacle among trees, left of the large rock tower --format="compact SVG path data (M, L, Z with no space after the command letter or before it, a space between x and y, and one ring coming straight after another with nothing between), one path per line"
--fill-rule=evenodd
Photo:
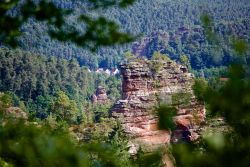
M106 104L109 102L105 88L99 86L96 90L96 93L92 95L91 101L94 104Z

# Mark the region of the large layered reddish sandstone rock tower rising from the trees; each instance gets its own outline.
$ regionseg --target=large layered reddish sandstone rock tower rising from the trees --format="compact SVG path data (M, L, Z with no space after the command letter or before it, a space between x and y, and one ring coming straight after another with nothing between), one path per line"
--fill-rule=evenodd
M175 62L141 60L120 65L122 75L122 99L117 101L112 116L120 119L126 133L136 143L159 145L178 141L182 130L188 129L191 138L204 120L204 106L192 93L193 76L187 69ZM177 125L172 134L157 130L157 116L154 107L160 103L172 103L175 94L190 94L188 105L178 105Z

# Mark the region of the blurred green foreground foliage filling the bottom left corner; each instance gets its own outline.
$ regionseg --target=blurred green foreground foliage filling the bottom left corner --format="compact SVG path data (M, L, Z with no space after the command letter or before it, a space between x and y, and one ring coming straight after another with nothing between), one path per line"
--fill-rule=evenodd
M80 166L86 163L83 152L77 151L66 136L52 135L47 130L22 123L1 125L1 131L1 157L14 166ZM12 147L11 143L16 146Z

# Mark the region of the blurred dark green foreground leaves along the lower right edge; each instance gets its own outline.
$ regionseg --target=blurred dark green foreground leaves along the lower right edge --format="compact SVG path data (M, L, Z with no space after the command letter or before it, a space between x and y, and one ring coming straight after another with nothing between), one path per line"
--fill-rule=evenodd
M218 90L198 80L194 92L206 102L210 113L222 116L232 130L203 136L198 146L174 146L178 166L248 166L250 80L241 65L232 65L229 76Z

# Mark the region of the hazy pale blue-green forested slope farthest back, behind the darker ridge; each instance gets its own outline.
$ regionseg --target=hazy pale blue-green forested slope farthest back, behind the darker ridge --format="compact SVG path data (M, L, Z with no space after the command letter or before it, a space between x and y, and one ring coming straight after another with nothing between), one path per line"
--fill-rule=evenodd
M84 9L84 5L78 1L54 0L62 8L76 9L75 15ZM99 10L99 14L105 14L110 19L117 21L121 28L134 34L149 35L154 31L177 31L180 27L193 28L200 25L200 15L203 12L211 15L215 22L237 21L250 18L250 4L248 0L138 0L126 10L108 9ZM75 24L75 17L71 15L68 21ZM79 25L79 29L84 27ZM131 45L114 48L101 48L96 54L90 53L70 43L52 41L44 34L46 27L33 20L23 26L25 35L20 39L23 49L33 53L48 56L63 57L66 59L77 58L80 65L90 68L114 67L122 59L124 50ZM236 26L235 29L241 31ZM248 29L249 31L249 29Z

